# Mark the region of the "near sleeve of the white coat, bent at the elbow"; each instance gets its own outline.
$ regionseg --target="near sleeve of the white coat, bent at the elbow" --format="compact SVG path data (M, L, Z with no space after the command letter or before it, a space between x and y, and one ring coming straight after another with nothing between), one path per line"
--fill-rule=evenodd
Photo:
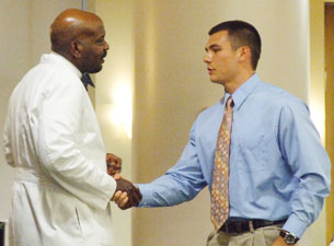
M87 204L105 209L115 192L116 181L84 157L78 142L82 133L80 125L84 124L81 116L85 92L78 78L64 74L57 75L57 86L45 92L39 105L38 137L35 138L39 162L53 181Z

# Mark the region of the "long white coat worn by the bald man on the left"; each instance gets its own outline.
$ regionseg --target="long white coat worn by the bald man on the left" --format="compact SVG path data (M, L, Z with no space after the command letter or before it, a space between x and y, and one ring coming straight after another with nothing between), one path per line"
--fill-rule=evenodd
M43 55L15 87L4 153L16 171L10 245L111 246L105 149L80 71L57 54Z

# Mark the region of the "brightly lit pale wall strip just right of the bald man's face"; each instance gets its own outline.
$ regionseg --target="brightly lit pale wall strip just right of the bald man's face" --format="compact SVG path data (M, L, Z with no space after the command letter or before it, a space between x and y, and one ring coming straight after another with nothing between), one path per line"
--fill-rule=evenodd
M106 150L122 156L122 175L133 179L133 1L99 0L96 13L104 21L110 51L95 75L95 109ZM131 243L131 210L113 206L113 223L117 246L136 245Z

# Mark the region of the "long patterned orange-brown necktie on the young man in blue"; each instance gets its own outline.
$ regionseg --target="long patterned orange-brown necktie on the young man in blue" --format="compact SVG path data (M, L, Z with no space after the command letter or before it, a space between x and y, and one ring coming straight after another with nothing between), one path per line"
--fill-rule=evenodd
M211 189L211 222L218 231L229 218L229 162L233 117L233 99L227 101L219 128L215 153L215 169Z

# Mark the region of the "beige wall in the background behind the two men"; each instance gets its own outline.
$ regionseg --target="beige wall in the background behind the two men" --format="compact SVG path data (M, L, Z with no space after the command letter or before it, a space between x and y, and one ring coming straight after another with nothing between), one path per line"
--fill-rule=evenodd
M49 50L48 26L69 7L80 8L81 2L0 1L0 30L7 34L0 35L1 136L10 92ZM312 113L323 110L321 92L310 93L308 0L99 0L96 13L111 45L104 70L95 78L96 113L107 151L123 157L124 175L130 179L147 183L174 165L198 112L222 96L201 61L207 32L221 21L253 23L263 39L258 74L311 106L320 102ZM127 137L131 107L122 106L131 99L133 139ZM321 117L314 117L320 127ZM12 178L0 151L0 220L9 214ZM113 210L117 246L204 245L211 230L207 189L174 208L135 209L133 214ZM325 246L324 229L322 214L301 245Z

